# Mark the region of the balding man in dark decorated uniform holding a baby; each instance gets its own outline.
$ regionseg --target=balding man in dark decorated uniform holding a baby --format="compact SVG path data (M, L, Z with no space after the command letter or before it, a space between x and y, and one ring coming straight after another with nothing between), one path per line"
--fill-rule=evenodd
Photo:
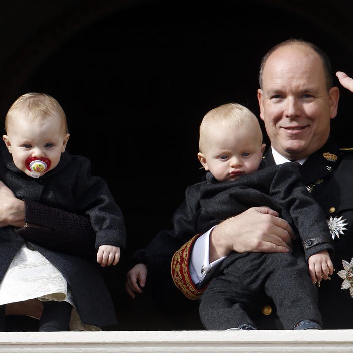
M351 79L343 73L337 76L353 91ZM329 60L311 43L289 40L265 55L259 78L260 117L272 144L266 165L289 160L302 164L302 180L322 207L334 240L336 272L319 289L323 327L353 328L353 152L340 149L330 137L339 91L332 87ZM249 209L186 243L172 261L174 282L196 299L231 251L288 252L291 235L290 226L273 210ZM196 252L208 258L200 261ZM271 308L263 312L269 314Z

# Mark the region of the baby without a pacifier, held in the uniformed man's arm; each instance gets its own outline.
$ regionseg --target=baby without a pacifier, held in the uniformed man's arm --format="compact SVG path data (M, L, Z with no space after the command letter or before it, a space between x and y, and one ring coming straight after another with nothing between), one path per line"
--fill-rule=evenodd
M153 267L156 258L172 256L174 244L182 245L255 206L276 210L298 231L303 245L300 249L297 245L293 254L234 252L227 257L201 297L200 317L207 329L254 329L251 313L264 293L274 300L285 329L322 325L312 282L333 272L330 232L320 207L301 183L298 163L258 171L264 148L259 123L245 107L226 104L207 113L200 127L198 153L209 171L207 180L187 188L186 200L173 216L173 229L160 232L140 256ZM171 251L167 244L173 245ZM178 264L174 257L173 273ZM137 279L143 275L143 266L134 268Z

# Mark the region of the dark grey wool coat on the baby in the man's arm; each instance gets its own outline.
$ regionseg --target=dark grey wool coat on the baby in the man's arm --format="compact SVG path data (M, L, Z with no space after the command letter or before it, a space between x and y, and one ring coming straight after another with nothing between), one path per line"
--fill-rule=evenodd
M205 233L220 221L255 206L278 211L299 232L303 242L299 246L304 246L306 259L323 249L332 255L332 238L324 214L302 184L299 168L298 163L285 163L222 183L207 173L206 181L186 189L185 202L173 216L173 229L160 232L146 249L136 253L135 261L158 267L192 235ZM234 252L222 266L245 255Z

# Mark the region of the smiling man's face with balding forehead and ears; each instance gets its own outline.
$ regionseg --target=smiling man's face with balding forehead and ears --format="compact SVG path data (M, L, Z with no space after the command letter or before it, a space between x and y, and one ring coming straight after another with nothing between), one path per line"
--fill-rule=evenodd
M320 57L290 44L274 51L258 90L260 117L274 149L288 159L307 158L321 148L337 114L339 91L327 91Z

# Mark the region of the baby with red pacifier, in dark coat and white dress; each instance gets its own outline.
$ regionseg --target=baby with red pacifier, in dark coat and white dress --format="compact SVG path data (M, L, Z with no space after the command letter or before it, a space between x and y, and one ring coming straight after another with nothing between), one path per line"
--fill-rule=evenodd
M120 247L125 246L121 211L106 183L90 174L89 160L65 152L69 134L59 103L46 94L25 94L9 109L5 129L0 179L19 199L89 217L96 233L97 262L116 265ZM41 241L42 230L37 229L28 224L20 230L0 229L0 308L4 311L5 304L14 301L42 300L40 331L69 330L73 307L84 324L115 324L97 264L72 255L75 251L65 249L65 244ZM27 233L39 236L28 241Z

